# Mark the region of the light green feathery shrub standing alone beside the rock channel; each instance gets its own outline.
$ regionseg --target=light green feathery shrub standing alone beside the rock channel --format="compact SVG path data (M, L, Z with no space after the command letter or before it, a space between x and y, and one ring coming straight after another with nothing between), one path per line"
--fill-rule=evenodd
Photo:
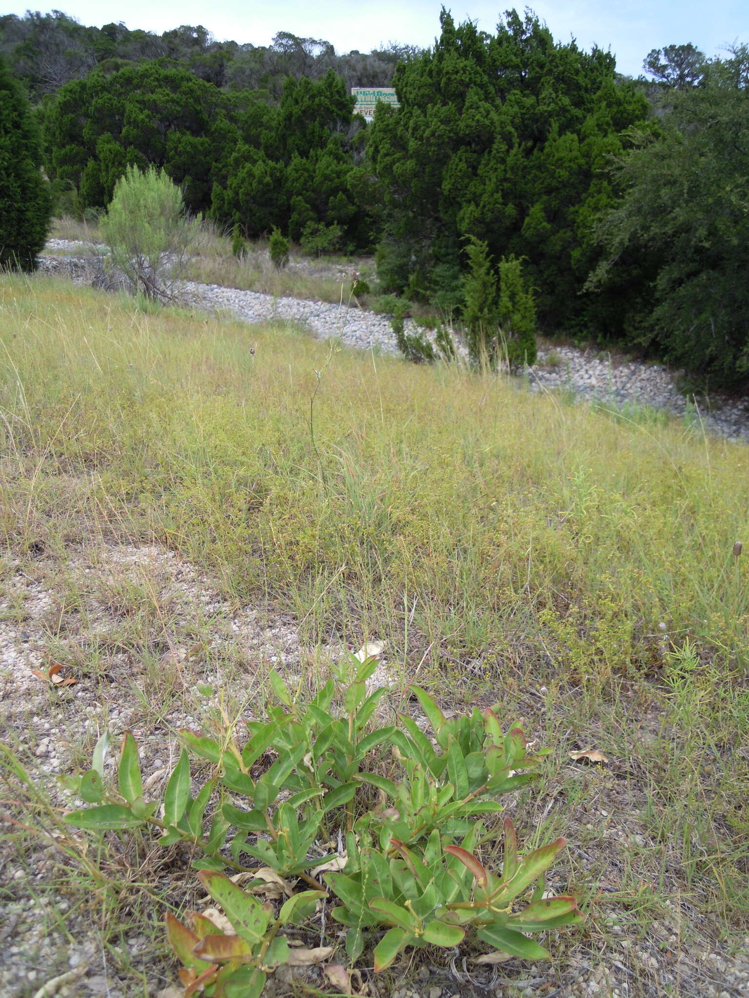
M185 217L182 192L163 170L128 167L101 229L133 290L163 300L197 247L200 220Z

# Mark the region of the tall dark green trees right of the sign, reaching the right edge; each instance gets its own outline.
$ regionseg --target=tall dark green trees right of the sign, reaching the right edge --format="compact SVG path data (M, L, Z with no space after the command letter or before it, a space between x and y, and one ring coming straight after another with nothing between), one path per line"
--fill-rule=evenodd
M749 49L653 50L646 84L528 11L441 29L369 135L380 281L464 309L479 241L524 261L546 329L746 381ZM490 326L498 296L481 308Z

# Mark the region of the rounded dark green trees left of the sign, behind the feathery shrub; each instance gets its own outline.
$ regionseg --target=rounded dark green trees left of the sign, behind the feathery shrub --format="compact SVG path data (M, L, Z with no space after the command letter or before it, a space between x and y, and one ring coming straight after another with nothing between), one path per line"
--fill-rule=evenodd
M74 214L108 205L128 166L155 166L181 185L191 212L246 237L279 228L352 252L374 239L353 177L364 122L332 70L289 78L272 106L156 60L65 84L41 119L48 176Z

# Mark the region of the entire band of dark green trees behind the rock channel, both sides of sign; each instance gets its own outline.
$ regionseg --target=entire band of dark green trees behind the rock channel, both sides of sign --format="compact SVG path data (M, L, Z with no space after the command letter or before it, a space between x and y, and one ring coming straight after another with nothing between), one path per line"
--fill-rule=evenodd
M375 250L381 291L473 336L499 344L502 268L517 283L520 267L547 331L746 382L747 47L654 49L648 82L555 42L530 11L487 34L442 10L440 29L433 48L401 53L400 107L370 126L315 51L278 99L219 87L184 58L102 60L36 111L58 205L101 210L127 167L153 165L192 212L245 237Z

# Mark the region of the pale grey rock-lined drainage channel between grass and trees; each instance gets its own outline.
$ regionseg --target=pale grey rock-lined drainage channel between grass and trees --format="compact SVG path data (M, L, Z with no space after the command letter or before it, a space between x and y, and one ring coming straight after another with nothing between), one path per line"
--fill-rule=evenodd
M86 244L51 240L48 247L79 251ZM90 258L78 256L44 255L40 257L40 268L67 272L79 283L90 282L93 272ZM389 317L375 312L195 281L185 281L182 289L186 303L196 308L230 312L250 323L298 322L323 339L335 336L351 346L397 353ZM405 330L416 332L418 326L406 319ZM709 407L703 401L695 403L676 390L674 372L662 364L621 360L615 354L558 346L540 349L538 360L527 369L526 377L531 391L565 390L577 400L623 408L625 415L627 406L649 406L688 419L698 429L704 427L729 440L749 442L749 399L714 395Z

